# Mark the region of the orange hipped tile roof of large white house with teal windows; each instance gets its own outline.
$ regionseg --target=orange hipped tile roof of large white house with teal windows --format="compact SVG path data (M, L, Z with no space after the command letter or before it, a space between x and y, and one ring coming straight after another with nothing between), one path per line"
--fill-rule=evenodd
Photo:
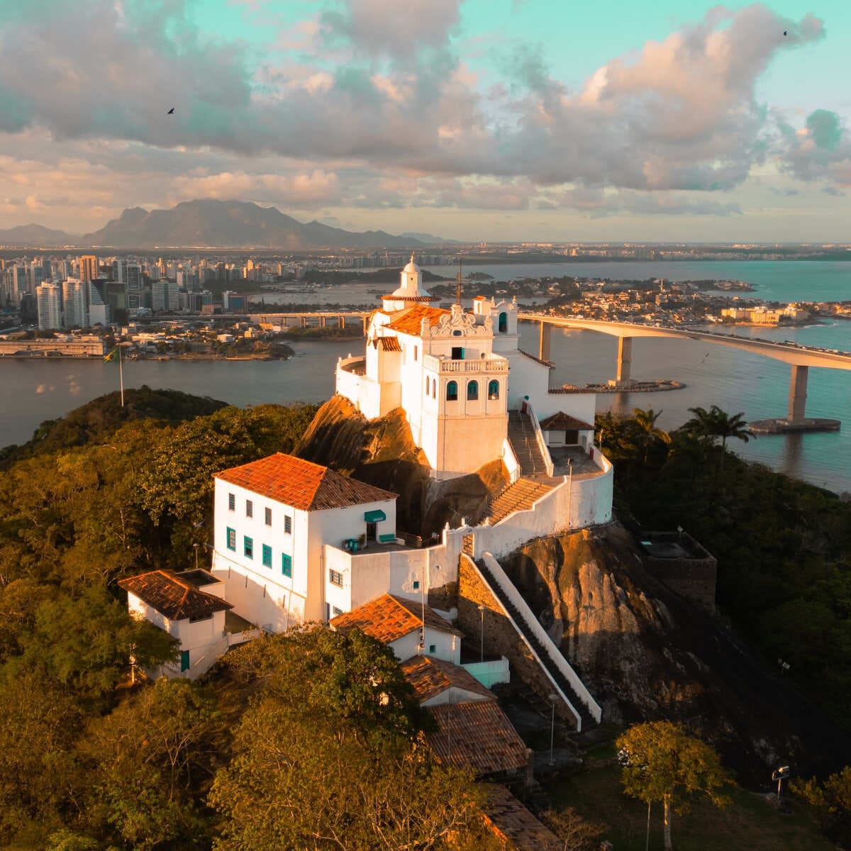
M301 511L383 502L395 500L398 495L283 452L231 467L214 477Z

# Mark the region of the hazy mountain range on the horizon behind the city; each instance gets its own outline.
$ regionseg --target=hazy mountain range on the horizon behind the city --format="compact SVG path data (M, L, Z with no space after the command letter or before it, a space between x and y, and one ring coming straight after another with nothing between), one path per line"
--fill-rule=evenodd
M421 238L420 238L421 237ZM86 248L420 248L445 240L431 234L357 233L306 224L275 207L243 201L186 201L171 209L125 209L100 231L75 236L41 225L0 231L0 245Z

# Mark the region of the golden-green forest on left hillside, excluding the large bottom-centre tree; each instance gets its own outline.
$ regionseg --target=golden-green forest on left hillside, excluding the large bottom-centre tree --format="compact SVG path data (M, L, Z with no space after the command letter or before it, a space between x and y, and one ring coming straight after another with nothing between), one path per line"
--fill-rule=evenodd
M0 848L209 846L195 792L220 745L213 699L130 694L130 654L174 647L116 580L190 568L193 544L205 557L214 471L291 451L315 408L117 396L43 424L0 471Z

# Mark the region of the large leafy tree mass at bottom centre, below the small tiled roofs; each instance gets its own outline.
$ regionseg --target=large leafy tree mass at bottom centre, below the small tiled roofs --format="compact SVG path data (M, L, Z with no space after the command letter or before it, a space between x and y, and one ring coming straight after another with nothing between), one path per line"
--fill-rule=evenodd
M431 762L389 648L311 626L234 655L254 699L208 797L218 851L448 851L478 835L481 796Z

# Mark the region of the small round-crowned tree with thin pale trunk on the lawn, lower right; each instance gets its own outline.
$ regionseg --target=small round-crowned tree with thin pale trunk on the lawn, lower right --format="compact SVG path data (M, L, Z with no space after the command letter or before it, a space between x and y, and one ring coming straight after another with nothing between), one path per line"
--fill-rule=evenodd
M730 782L721 759L710 745L689 735L681 724L654 721L635 724L617 740L622 782L630 797L648 805L659 801L665 815L665 851L671 851L671 819L683 812L688 797L703 792L718 807Z

